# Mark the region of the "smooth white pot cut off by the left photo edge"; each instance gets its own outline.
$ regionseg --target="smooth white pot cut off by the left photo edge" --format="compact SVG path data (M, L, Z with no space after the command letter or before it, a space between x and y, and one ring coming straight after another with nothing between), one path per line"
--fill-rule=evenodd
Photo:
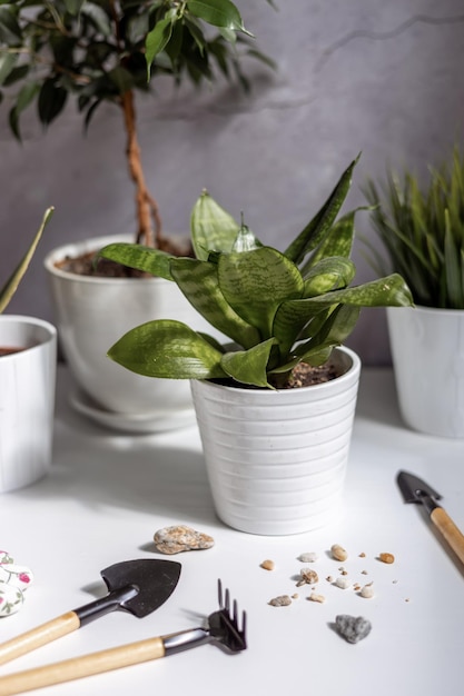
M33 317L0 316L0 493L42 478L51 464L57 331Z

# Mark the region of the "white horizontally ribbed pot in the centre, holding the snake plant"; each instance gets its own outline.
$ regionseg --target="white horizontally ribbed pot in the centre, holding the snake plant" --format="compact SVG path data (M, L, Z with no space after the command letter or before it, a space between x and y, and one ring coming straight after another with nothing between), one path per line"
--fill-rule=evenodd
M339 348L334 362L343 376L280 391L191 381L216 513L230 527L287 535L336 518L361 360Z

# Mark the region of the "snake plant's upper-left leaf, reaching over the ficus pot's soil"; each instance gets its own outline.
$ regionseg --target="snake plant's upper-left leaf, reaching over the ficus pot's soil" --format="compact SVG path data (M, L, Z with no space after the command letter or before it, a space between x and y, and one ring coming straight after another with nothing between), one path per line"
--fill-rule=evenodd
M166 280L172 280L170 261L176 257L159 249L135 243L115 242L100 249L98 256Z

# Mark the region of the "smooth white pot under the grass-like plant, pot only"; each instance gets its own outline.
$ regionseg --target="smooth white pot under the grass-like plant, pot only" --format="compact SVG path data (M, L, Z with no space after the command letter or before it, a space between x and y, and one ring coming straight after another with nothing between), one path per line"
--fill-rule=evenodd
M464 437L464 310L387 308L399 409L427 435Z

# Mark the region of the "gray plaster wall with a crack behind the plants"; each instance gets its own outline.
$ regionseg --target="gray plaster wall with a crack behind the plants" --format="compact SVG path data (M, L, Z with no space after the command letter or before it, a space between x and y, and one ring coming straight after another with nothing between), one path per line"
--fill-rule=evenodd
M138 102L147 181L165 228L187 231L201 188L277 248L316 212L363 151L346 210L364 201L366 177L387 163L421 172L462 139L462 0L237 0L258 47L278 63L249 63L250 98L228 86L175 93L169 83ZM86 137L75 106L43 133L33 113L23 145L0 107L0 279L43 210L56 213L9 312L52 319L41 260L67 241L135 231L121 115L105 107ZM372 233L359 215L359 231ZM357 280L374 272L357 242ZM389 360L384 310L365 310L352 337L365 364Z

